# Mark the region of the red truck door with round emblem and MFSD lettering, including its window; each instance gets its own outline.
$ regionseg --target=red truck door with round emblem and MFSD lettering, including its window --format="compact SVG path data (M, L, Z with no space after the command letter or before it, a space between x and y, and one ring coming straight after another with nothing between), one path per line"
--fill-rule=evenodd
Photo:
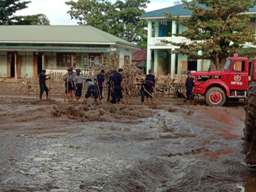
M230 90L247 90L249 85L249 63L246 60L234 60L228 75Z

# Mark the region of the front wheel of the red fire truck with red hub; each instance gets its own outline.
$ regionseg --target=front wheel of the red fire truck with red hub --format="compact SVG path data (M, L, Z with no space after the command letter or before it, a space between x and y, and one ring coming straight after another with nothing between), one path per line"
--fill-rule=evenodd
M220 87L211 87L206 92L206 103L208 106L223 106L226 99L225 91Z

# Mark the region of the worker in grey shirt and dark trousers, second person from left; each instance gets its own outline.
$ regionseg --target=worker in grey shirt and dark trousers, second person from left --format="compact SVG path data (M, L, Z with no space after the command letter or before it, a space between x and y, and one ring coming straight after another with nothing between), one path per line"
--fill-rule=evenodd
M64 102L66 101L67 97L73 100L73 90L75 90L73 78L75 76L75 72L73 72L73 68L68 68L68 73L66 73L63 77L65 81L65 98ZM68 83L67 83L68 81Z

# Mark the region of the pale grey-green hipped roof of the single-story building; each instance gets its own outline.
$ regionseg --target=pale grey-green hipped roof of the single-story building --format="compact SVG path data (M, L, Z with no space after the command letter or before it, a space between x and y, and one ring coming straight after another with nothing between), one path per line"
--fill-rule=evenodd
M0 26L0 43L97 43L136 45L92 26Z

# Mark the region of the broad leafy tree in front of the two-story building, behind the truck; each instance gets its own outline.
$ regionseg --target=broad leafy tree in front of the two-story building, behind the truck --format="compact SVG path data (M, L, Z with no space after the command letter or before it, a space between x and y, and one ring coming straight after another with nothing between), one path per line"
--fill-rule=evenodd
M255 6L255 0L183 0L184 9L192 11L188 18L165 13L166 18L186 26L187 31L174 36L183 36L191 43L174 43L179 46L173 53L190 58L212 60L216 68L223 68L225 60L233 50L241 49L245 43L255 45L255 31L247 23L250 15L245 14ZM203 55L198 55L198 51Z

